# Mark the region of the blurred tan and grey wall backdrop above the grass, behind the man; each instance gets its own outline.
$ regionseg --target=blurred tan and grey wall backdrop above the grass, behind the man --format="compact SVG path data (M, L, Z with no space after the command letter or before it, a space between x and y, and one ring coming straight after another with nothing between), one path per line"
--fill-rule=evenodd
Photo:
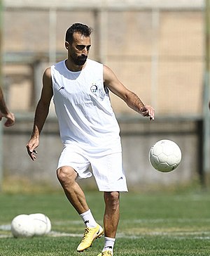
M109 65L155 108L150 122L111 95L130 190L208 188L209 13L209 0L1 0L1 86L16 115L14 127L1 123L1 190L59 188L55 169L62 143L53 103L35 162L25 145L43 72L66 58L64 36L73 23L93 28L90 58ZM182 151L181 164L169 174L148 161L160 139L172 139ZM94 179L84 186L95 188Z

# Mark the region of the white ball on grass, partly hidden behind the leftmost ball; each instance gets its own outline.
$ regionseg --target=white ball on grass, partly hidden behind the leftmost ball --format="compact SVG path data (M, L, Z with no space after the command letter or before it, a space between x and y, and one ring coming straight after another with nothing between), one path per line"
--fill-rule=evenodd
M34 225L34 235L43 236L51 231L50 219L42 213L34 213L29 215Z

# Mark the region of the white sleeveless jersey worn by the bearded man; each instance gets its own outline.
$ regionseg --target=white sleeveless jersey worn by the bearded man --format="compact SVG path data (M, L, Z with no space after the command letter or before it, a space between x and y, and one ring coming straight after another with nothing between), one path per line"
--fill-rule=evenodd
M51 75L62 143L76 144L94 155L121 152L103 65L87 59L83 70L71 72L62 60L51 66Z

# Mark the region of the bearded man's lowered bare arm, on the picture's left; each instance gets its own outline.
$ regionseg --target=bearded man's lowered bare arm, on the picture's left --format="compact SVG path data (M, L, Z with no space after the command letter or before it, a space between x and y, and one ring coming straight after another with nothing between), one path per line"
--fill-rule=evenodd
M45 120L48 117L50 101L52 98L52 79L50 68L47 68L43 74L43 88L41 91L41 98L38 101L36 106L36 112L34 116L34 127L31 134L31 139L27 143L27 151L31 160L36 159L36 155L34 154L35 148L38 147L39 144L39 136L43 129L43 125L45 124Z

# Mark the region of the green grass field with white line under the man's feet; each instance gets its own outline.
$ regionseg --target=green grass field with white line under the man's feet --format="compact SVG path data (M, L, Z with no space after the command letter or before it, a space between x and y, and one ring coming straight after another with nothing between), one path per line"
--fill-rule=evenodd
M97 222L102 224L102 193L86 192ZM123 193L114 255L208 256L210 255L210 193ZM89 250L76 252L83 223L63 193L0 193L1 256L97 256L104 238ZM52 232L34 238L13 238L10 222L16 215L42 212Z

